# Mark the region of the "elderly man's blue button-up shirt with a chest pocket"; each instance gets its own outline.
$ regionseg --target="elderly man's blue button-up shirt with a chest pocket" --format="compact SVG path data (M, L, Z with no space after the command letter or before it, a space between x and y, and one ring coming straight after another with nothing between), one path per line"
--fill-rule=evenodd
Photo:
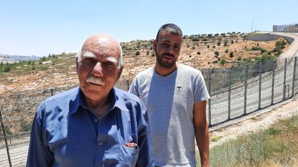
M146 107L116 88L109 97L100 119L79 87L46 99L32 125L27 166L153 166Z

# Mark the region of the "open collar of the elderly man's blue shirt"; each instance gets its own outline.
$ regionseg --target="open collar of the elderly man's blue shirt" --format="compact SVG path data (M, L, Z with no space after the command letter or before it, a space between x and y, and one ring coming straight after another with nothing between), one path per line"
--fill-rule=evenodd
M81 91L81 88L78 87L77 88L77 96L70 101L70 114L76 113L79 110L79 107L83 107L88 109L87 104L84 100L84 94L83 91ZM126 104L124 102L124 99L122 97L122 93L121 91L119 91L119 89L117 88L112 88L110 91L110 109L108 110L108 112L112 111L113 109L115 109L115 107L117 107L118 109L120 109L121 111L129 111L128 108L126 107Z

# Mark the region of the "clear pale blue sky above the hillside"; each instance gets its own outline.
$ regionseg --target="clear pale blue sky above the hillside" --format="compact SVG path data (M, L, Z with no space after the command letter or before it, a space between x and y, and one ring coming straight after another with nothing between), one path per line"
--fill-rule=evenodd
M272 31L298 23L297 8L298 0L0 0L0 54L74 53L97 33L148 40L165 23L183 35Z

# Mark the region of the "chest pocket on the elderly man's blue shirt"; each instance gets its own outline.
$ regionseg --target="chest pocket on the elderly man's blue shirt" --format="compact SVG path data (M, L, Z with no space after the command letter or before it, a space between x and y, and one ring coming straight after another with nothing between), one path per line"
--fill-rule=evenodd
M128 147L120 144L119 148L119 164L123 166L136 166L139 157L139 147Z

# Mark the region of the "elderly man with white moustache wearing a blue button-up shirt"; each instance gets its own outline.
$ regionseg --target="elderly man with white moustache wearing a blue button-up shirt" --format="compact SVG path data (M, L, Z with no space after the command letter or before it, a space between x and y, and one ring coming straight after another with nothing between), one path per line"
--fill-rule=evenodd
M119 43L92 35L76 60L79 87L37 109L27 166L153 166L146 107L114 87L123 69Z

